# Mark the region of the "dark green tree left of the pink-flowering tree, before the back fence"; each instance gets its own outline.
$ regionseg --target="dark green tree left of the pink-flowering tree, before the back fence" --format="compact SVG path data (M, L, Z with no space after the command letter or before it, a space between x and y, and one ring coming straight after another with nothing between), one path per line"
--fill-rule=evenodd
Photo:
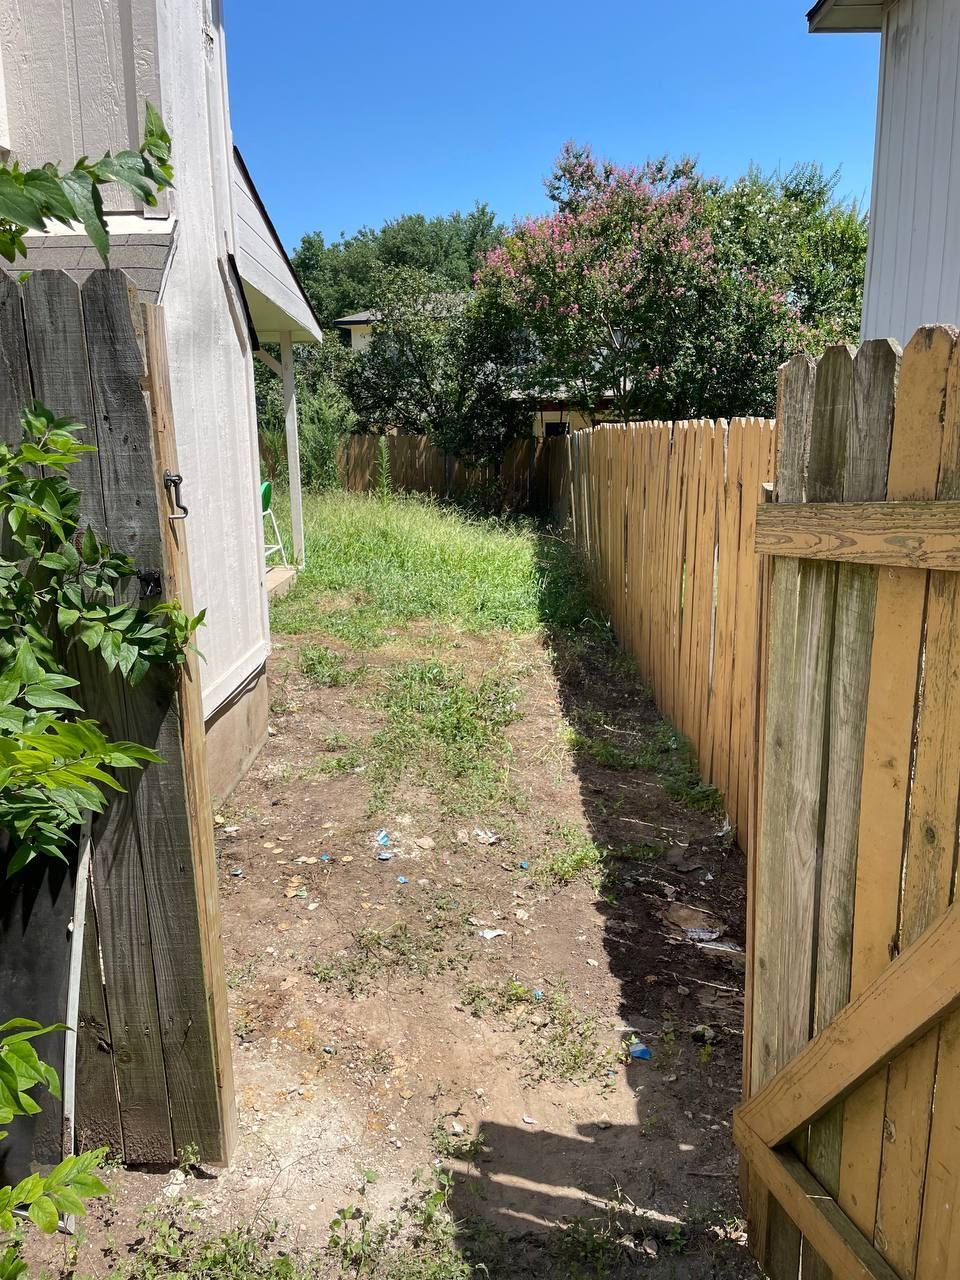
M370 348L356 355L343 387L367 430L397 428L472 465L497 463L530 430L515 393L524 333L492 292L449 289L412 268L380 269Z

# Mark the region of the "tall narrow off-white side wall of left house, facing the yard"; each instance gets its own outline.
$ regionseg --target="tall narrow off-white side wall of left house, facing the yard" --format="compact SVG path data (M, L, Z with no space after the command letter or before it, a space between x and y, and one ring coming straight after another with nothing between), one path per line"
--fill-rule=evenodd
M268 652L253 366L233 251L223 28L209 0L160 0L160 68L174 140L179 243L163 294L204 710L210 716Z

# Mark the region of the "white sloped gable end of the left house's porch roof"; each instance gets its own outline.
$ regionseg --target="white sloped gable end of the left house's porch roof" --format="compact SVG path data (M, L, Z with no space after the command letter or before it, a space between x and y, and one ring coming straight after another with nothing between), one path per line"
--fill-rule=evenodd
M233 148L233 202L237 271L257 338L278 342L282 333L289 333L293 342L321 342L320 320L237 147Z

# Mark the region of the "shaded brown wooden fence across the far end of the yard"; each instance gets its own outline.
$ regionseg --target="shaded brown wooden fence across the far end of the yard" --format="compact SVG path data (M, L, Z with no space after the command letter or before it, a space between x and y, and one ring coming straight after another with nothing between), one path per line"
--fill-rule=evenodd
M511 507L526 507L534 494L543 440L517 440L507 448L499 476L493 467L467 467L422 435L387 435L390 485L401 493L463 498L471 489L499 481ZM344 489L370 493L380 472L379 436L351 435L340 451Z

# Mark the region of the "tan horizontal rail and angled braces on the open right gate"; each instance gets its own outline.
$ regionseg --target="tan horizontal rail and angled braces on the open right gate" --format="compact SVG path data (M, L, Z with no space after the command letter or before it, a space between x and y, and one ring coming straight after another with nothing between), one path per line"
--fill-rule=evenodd
M960 502L765 503L754 548L758 556L960 571ZM837 1276L899 1280L783 1143L960 1007L959 969L960 901L733 1114L744 1158Z

